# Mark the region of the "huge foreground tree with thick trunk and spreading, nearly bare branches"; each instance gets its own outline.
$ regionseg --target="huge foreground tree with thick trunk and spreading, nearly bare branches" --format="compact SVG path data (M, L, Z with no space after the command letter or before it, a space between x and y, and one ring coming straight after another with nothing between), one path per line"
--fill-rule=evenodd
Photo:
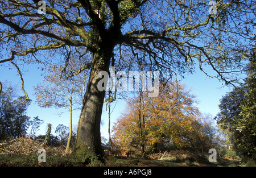
M75 155L86 150L88 156L102 158L105 91L97 89L97 74L109 71L110 63L117 65L118 53L130 53L162 77L193 72L197 66L230 84L237 77L233 74L244 70L243 60L255 38L255 3L221 0L210 5L203 0L2 0L0 64L15 65L23 81L17 64L46 62L46 53L55 56L70 46L76 60L90 56L89 63L69 73L90 68ZM67 66L70 59L64 55L61 60ZM121 57L118 64L125 61Z

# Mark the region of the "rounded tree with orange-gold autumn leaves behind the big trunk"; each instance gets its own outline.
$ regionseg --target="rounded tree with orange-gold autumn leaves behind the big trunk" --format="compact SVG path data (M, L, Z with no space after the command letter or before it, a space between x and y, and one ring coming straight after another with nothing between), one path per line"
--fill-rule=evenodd
M185 85L168 82L160 86L158 97L143 93L141 103L139 97L127 102L126 111L113 127L113 143L121 152L139 151L142 146L145 152L196 147L203 141L196 97Z

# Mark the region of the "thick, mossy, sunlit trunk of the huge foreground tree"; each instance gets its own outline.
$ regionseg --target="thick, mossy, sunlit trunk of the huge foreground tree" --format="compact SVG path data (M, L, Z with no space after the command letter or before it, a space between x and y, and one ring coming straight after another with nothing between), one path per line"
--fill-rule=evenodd
M106 50L107 49L107 50ZM75 155L82 159L97 158L103 160L104 150L101 145L101 113L104 104L105 90L100 92L97 88L98 72L109 71L113 48L105 47L93 54L93 66L86 88L82 110L77 127Z

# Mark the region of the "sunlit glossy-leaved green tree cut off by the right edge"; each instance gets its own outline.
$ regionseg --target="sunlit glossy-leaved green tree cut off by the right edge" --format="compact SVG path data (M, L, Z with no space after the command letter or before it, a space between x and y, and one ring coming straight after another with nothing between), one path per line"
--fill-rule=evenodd
M245 80L245 100L241 104L239 117L236 117L235 146L243 159L256 162L256 49L251 52Z

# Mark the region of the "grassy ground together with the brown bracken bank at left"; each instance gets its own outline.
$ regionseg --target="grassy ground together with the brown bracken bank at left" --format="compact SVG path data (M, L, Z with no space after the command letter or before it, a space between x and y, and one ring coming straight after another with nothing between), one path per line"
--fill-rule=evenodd
M75 159L69 154L64 154L64 147L44 147L46 150L46 162L38 162L38 150L43 142L30 138L18 138L5 140L0 143L0 166L12 167L84 167L84 166L107 166L107 167L172 167L172 166L241 166L239 160L217 158L217 163L208 161L209 155L195 154L188 151L176 150L147 155L114 156L106 155L105 163L97 159L90 164L85 164L81 159ZM251 166L251 165L250 165Z

